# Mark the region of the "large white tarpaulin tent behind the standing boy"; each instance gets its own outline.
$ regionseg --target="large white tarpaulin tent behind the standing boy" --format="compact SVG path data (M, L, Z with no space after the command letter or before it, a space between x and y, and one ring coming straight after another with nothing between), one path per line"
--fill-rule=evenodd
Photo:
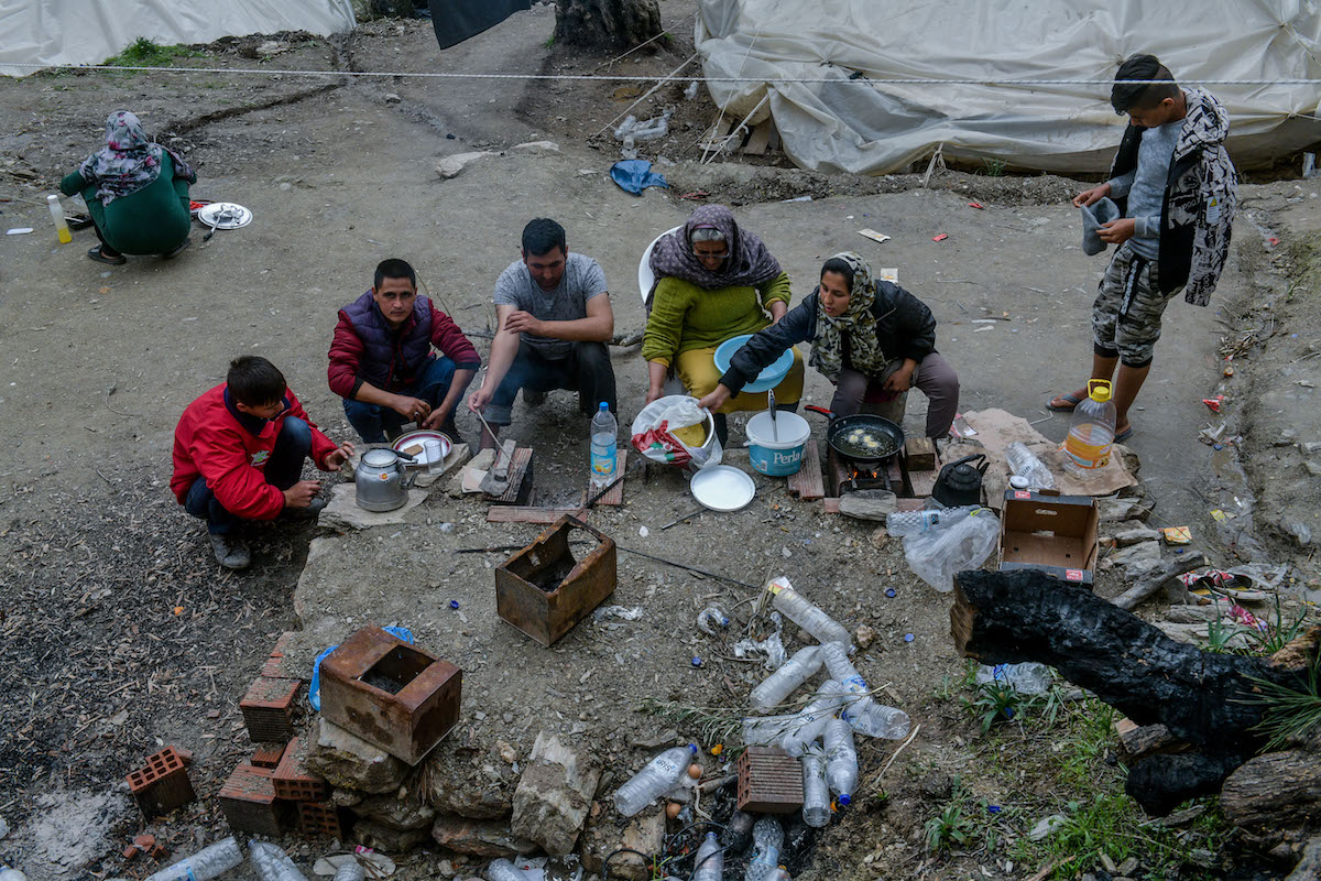
M695 38L708 78L753 81L708 79L727 115L771 115L802 168L871 174L939 144L971 162L1106 170L1127 123L1108 85L877 79L1108 81L1133 53L1186 81L1321 79L1318 40L1312 0L699 0ZM1239 164L1321 140L1314 85L1206 88Z

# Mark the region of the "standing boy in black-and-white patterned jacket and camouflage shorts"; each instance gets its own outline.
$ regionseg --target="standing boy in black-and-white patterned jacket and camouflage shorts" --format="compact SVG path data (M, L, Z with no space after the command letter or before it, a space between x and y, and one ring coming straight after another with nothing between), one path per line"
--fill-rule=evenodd
M1156 82L1131 82L1156 81ZM1110 180L1079 193L1083 207L1112 198L1120 218L1098 227L1118 244L1092 305L1092 379L1115 375L1115 440L1132 433L1128 408L1151 372L1161 314L1180 291L1205 306L1230 250L1238 176L1225 137L1230 116L1214 95L1180 88L1155 55L1119 66L1110 103L1128 114ZM1046 407L1070 412L1086 386Z

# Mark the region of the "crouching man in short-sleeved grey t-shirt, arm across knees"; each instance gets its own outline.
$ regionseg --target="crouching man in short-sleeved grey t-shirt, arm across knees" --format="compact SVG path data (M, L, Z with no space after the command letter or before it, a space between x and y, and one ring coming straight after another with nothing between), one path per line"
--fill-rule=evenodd
M495 280L495 317L486 379L468 398L491 431L509 425L519 388L531 404L552 388L568 388L577 391L583 415L594 413L602 400L616 412L606 349L614 313L605 272L592 258L569 254L555 221L536 218L523 227L523 259ZM481 445L497 445L485 429Z

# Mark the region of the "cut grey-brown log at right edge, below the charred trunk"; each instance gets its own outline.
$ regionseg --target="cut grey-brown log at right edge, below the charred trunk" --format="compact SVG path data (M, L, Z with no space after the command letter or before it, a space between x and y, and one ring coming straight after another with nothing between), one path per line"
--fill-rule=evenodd
M1225 781L1226 819L1247 828L1283 828L1321 819L1321 754L1291 749L1246 762ZM1317 876L1309 876L1317 877Z

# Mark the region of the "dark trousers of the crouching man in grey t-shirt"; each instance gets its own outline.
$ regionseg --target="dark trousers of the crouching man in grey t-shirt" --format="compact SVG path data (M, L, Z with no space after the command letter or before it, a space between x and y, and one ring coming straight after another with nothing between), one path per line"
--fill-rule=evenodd
M579 409L584 416L594 413L602 400L612 413L616 412L614 366L604 342L575 342L563 358L546 358L532 346L519 342L514 363L486 404L486 421L509 425L520 388L568 388L579 394Z

